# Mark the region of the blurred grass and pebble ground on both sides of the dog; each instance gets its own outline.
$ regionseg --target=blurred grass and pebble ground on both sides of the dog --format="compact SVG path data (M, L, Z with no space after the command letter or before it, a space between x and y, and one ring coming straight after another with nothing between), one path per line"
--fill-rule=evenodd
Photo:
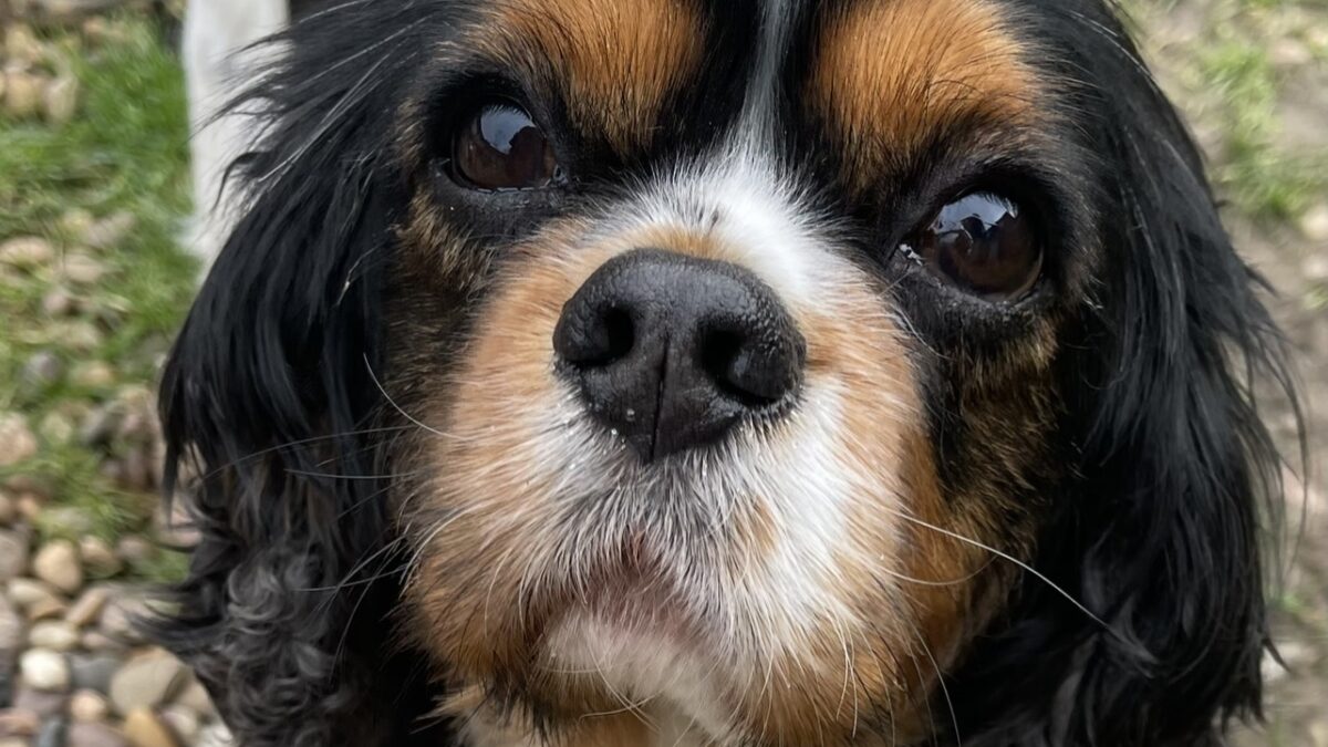
M127 625L189 532L158 508L154 384L193 294L183 0L0 0L0 747L228 743L198 685ZM1126 0L1208 153L1223 218L1328 448L1328 0ZM1328 500L1292 459L1266 661L1240 747L1328 747ZM1307 517L1307 524L1301 522Z

